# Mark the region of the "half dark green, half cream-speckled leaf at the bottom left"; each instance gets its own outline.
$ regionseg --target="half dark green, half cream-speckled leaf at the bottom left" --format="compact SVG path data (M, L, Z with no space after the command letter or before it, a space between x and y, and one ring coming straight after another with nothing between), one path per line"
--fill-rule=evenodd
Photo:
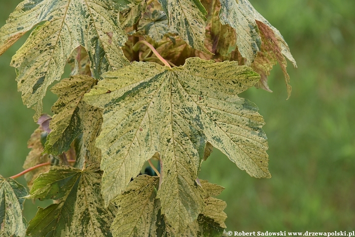
M100 195L101 174L96 165L85 170L52 166L34 183L28 198L55 199L58 203L39 208L29 223L29 236L111 236L109 227L115 209L104 207Z

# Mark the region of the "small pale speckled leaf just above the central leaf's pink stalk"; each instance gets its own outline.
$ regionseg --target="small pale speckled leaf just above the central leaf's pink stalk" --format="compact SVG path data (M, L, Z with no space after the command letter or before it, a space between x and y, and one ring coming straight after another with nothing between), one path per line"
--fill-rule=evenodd
M148 14L147 17L142 18L138 30L156 42L162 40L166 35L177 34L172 27L168 26L166 14L156 9L151 14Z

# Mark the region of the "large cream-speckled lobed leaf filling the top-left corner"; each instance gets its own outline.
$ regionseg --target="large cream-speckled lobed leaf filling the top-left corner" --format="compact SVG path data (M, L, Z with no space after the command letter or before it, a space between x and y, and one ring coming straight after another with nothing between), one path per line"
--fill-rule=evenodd
M71 52L80 44L90 56L91 69L99 79L108 69L127 64L120 46L127 40L117 23L119 2L113 0L25 0L0 29L0 52L36 24L26 43L12 58L18 89L24 104L42 111L47 87L59 80Z

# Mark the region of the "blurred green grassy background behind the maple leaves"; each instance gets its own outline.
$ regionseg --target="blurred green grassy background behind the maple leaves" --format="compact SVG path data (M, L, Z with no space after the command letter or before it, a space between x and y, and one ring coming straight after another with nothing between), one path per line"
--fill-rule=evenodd
M1 0L0 26L20 0ZM255 179L219 151L203 163L200 178L226 188L227 230L355 230L355 1L251 0L288 43L298 69L289 63L292 95L279 66L269 93L241 94L260 108L269 139L271 179ZM12 55L28 34L0 57L0 174L22 171L27 140L37 125L34 111L17 92ZM67 75L64 75L67 76ZM47 93L44 112L56 96ZM25 185L23 177L17 179ZM25 202L30 220L36 206Z

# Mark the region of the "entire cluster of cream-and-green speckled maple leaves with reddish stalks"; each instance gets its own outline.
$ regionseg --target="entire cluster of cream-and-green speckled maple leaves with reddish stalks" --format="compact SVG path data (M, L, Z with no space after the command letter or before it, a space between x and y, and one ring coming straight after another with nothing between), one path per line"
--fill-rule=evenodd
M30 30L11 61L39 124L30 192L22 173L0 176L0 236L221 236L223 187L198 178L213 147L271 177L264 120L238 94L270 91L279 62L289 96L285 58L296 63L248 0L25 0L0 29L0 54ZM27 223L32 198L53 204Z

